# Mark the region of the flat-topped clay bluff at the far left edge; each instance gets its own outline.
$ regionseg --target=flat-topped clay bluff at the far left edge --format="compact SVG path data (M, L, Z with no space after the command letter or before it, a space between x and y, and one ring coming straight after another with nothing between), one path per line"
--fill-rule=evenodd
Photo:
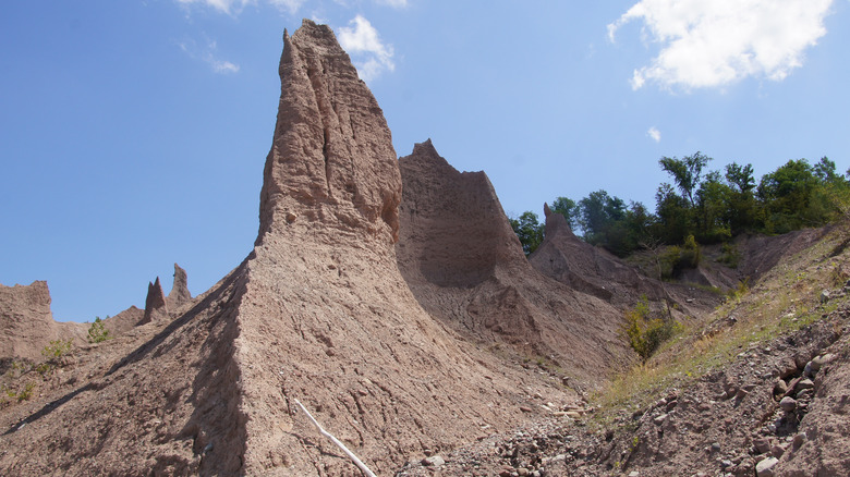
M59 339L84 343L83 326L56 322L47 282L0 285L0 358L40 359L41 350Z

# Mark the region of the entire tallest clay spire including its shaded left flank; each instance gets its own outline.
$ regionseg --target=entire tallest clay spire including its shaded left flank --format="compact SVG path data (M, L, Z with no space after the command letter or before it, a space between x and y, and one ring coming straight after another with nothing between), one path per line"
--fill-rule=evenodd
M92 346L3 413L0 474L360 475L295 399L388 474L572 402L408 289L390 132L330 28L284 33L280 74L252 254L171 323Z

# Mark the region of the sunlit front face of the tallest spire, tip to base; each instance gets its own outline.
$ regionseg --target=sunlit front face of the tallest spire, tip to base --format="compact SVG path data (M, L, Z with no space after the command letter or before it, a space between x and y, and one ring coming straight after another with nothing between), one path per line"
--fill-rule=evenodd
M423 447L517 423L522 387L541 383L459 341L399 274L390 133L330 29L305 22L284 38L280 71L260 232L238 310L245 470L350 472L321 455L338 453L325 443L305 447L315 435L292 414L295 399L384 470Z

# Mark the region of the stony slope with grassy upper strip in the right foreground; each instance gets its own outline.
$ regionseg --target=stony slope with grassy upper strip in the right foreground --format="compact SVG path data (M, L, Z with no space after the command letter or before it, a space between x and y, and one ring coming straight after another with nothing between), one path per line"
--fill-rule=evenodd
M826 232L763 270L751 292L719 307L704 328L628 375L621 386L646 382L617 406L600 394L592 404L603 407L591 417L543 419L489 437L445 455L441 470L850 475L850 253L847 229ZM411 463L398 475L430 474Z

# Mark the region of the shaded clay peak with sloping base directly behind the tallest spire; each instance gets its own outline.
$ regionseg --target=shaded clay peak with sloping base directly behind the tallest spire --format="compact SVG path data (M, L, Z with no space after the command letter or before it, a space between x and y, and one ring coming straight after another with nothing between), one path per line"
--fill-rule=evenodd
M399 269L426 310L483 344L554 359L584 381L622 363L621 313L529 265L486 174L458 172L430 140L399 166Z

